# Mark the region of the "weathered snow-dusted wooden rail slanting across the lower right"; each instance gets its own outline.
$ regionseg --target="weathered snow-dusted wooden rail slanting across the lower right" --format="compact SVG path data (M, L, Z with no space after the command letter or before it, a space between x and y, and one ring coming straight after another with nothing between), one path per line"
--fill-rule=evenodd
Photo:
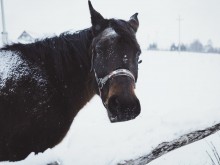
M159 144L155 149L153 149L149 154L141 156L137 159L131 159L125 161L125 163L119 163L118 165L146 165L152 160L159 158L160 156L175 150L177 148L183 147L187 144L196 142L198 140L204 139L205 137L214 134L220 130L220 123L212 127L208 127L204 130L198 130L191 132L189 134L183 135L178 139L170 142L163 142Z

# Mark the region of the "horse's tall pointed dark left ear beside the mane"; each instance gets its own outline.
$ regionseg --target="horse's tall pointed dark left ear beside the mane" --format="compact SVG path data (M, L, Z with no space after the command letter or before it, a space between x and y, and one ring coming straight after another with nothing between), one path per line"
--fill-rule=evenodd
M90 14L91 14L92 26L96 31L99 31L101 29L100 23L105 19L103 18L103 16L99 12L97 12L93 8L90 0L88 1L88 3L89 3Z

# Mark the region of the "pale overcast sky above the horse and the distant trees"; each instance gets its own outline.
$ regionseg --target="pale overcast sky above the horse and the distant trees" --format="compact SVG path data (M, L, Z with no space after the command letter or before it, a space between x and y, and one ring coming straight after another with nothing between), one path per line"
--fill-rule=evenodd
M69 29L90 27L87 0L4 0L6 28L10 39L23 30L59 34ZM157 42L165 48L178 43L178 17L181 16L181 41L212 40L220 47L220 0L92 0L105 18L128 20L138 12L137 33L142 48ZM2 27L0 27L2 31Z

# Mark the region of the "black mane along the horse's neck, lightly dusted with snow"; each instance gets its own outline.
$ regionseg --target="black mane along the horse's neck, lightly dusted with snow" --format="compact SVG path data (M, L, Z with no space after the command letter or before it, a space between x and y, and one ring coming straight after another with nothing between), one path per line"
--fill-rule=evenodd
M79 70L80 74L86 74L90 69L88 50L92 38L91 29L88 28L75 33L67 31L30 44L14 43L1 50L18 52L26 61L41 66L53 80L71 83L76 81L74 77L77 75L77 78L83 78Z

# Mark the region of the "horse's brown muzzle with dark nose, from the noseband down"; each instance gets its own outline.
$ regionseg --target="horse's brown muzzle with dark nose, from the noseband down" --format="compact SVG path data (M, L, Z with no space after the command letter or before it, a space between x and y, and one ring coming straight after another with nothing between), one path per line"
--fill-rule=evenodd
M111 122L128 121L136 118L141 111L138 98L134 94L135 76L127 69L117 69L104 78L98 78L95 70L95 78L104 106L108 111ZM102 93L104 85L110 81L107 95ZM106 92L104 92L106 93ZM106 98L106 99L105 99Z

